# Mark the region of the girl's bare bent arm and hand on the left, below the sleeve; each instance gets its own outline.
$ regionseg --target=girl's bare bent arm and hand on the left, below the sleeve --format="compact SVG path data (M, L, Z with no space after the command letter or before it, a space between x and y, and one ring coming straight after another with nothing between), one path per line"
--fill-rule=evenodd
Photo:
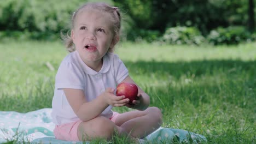
M117 97L113 94L113 88L107 88L99 97L92 101L85 99L84 91L80 89L64 88L63 89L69 105L81 121L89 121L102 113L109 105L124 106L129 99L125 96Z

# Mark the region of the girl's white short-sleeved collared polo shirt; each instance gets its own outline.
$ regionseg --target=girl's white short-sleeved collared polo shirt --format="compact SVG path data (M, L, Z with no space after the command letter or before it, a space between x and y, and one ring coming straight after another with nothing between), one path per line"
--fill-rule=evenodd
M106 88L116 89L118 83L127 76L128 70L124 63L113 53L108 52L103 57L103 65L98 72L88 67L77 51L69 53L61 62L55 77L53 112L51 113L53 122L60 125L79 120L69 105L63 88L82 89L86 100L92 101ZM111 109L112 106L108 106L100 116L110 118L113 115Z

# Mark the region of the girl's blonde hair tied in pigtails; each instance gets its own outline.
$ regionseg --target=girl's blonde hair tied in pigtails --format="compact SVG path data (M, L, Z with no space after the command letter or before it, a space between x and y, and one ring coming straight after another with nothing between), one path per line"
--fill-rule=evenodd
M120 11L117 7L111 7L110 5L103 3L103 2L91 2L91 3L86 3L82 5L82 7L78 8L77 10L74 11L72 18L71 18L71 29L74 28L75 24L75 19L77 18L77 15L79 14L80 10L82 9L96 9L100 10L103 13L109 13L110 16L113 17L113 33L114 33L114 39L118 40L119 35L120 35L120 28L121 28L121 16L120 16ZM73 52L75 51L75 46L73 43L73 40L71 38L70 30L65 34L63 31L61 31L61 38L65 43L66 49L68 52ZM114 47L109 47L109 52L114 51Z

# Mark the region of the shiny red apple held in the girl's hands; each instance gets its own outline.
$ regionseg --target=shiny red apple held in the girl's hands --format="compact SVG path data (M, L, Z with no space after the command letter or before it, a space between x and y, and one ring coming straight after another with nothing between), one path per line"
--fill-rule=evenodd
M133 83L122 82L117 86L117 92L115 93L117 96L125 95L125 98L129 98L129 104L132 104L133 100L137 100L138 98L138 87Z

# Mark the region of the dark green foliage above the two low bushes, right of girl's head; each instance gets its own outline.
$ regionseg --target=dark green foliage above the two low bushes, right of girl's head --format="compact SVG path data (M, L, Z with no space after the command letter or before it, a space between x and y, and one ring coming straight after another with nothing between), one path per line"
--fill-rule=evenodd
M114 2L131 16L138 28L160 32L164 32L166 27L194 26L199 28L203 35L207 35L219 26L246 26L248 20L247 0Z

